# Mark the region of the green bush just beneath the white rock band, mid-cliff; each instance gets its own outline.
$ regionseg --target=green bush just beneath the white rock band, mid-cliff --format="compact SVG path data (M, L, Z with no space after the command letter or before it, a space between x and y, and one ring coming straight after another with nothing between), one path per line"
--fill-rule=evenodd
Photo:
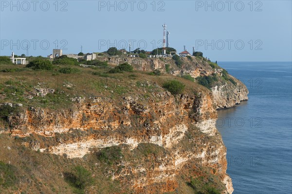
M123 153L119 146L105 147L97 153L98 160L109 165L120 161L122 157Z

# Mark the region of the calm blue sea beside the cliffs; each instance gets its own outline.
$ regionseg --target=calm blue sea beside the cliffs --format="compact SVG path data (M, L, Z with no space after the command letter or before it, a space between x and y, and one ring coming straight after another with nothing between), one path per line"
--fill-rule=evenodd
M292 194L292 62L221 62L249 100L218 112L234 194Z

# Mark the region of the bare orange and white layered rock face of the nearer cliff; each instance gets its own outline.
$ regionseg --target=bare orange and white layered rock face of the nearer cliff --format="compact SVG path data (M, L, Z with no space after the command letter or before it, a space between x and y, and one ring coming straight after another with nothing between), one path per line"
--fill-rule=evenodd
M166 150L163 156L146 161L122 160L121 170L109 172L112 179L122 181L136 193L175 191L177 178L195 163L214 169L212 173L225 185L222 193L231 194L226 148L215 128L217 106L207 91L177 96L153 92L147 99L91 97L59 112L31 108L9 116L8 121L13 135L36 133L50 138L49 143L31 142L26 146L69 158L84 157L108 146L124 145L134 150L151 143L162 147Z

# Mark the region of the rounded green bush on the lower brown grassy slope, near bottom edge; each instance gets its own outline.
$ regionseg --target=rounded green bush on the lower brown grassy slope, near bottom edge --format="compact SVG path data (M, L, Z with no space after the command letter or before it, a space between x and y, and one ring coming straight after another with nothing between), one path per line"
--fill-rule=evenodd
M86 187L93 184L91 172L82 166L76 166L73 168L72 172L66 172L64 175L65 180L79 190L84 190Z

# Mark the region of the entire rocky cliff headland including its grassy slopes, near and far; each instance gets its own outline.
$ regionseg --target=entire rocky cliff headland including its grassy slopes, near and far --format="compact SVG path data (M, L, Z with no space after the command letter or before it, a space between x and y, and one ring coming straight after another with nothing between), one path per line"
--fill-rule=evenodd
M231 194L216 110L246 100L246 87L197 58L183 58L182 68L167 58L100 60L113 66L128 62L140 71L108 75L93 68L97 73L92 74L92 69L78 67L82 76L55 75L50 81L46 72L37 72L36 85L22 77L36 72L1 74L9 81L0 83L0 109L3 113L8 107L9 113L0 126L0 160L11 165L15 181L0 192L71 194L67 175L79 165L94 178L87 193ZM165 72L165 64L172 75L144 73ZM174 77L182 74L216 74L218 79L207 89L198 81ZM173 95L162 87L172 79L185 84L182 93ZM0 163L0 170L1 165L6 164ZM5 172L0 171L4 182L9 179Z

